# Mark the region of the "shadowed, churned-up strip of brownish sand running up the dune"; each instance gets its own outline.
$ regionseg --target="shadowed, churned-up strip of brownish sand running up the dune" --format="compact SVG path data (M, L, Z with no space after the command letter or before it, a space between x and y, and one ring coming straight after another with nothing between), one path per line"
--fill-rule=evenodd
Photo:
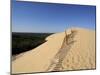
M67 32L65 31L65 37L62 46L57 52L57 54L54 56L54 58L52 59L51 64L46 71L63 70L62 61L64 60L65 56L67 55L67 52L70 50L71 46L75 42L73 40L75 34L76 31L73 30L70 31L70 34L67 34Z

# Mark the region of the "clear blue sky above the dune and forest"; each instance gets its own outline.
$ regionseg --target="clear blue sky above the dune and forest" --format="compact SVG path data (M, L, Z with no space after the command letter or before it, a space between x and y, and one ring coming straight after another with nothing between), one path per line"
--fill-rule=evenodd
M62 32L70 27L95 29L95 6L12 2L13 32Z

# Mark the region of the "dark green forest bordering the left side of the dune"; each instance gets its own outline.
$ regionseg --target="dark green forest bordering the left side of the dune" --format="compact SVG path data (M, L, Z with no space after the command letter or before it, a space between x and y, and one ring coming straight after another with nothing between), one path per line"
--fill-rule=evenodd
M12 55L29 51L42 43L53 33L12 33Z

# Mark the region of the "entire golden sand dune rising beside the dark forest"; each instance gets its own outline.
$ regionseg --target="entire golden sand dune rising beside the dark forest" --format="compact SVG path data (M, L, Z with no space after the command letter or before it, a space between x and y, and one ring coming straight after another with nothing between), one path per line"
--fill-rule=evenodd
M12 73L95 69L95 31L73 28L12 61Z

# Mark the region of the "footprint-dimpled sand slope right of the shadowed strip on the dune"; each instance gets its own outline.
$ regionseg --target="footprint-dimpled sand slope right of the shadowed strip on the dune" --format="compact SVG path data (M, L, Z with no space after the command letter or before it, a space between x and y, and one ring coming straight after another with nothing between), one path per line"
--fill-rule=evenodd
M76 41L63 60L65 70L95 69L95 32L78 29Z

